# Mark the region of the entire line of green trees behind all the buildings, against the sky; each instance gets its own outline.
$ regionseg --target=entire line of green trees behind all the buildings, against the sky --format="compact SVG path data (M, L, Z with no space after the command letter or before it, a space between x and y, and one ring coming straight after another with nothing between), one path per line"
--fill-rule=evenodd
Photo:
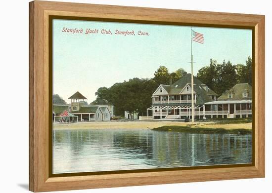
M210 59L210 64L201 68L197 78L214 90L219 96L230 89L236 83L249 83L252 81L252 59L248 57L246 64L232 65L230 61L222 64ZM151 96L160 84L174 83L184 75L182 68L170 73L168 68L160 66L154 73L154 77L132 78L128 81L113 84L111 87L100 87L95 92L96 99L91 105L114 105L114 114L124 116L125 111L137 112L139 116L146 115L146 108L151 107ZM54 99L55 98L55 99ZM66 104L58 96L53 96L53 104Z

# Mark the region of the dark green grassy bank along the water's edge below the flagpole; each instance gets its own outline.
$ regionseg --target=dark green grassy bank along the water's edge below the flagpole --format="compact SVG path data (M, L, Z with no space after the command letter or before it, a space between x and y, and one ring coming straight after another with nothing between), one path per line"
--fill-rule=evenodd
M234 134L251 134L251 129L224 129L224 128L201 128L195 126L162 126L153 128L155 131L175 131L175 132L183 132L183 133L234 133Z

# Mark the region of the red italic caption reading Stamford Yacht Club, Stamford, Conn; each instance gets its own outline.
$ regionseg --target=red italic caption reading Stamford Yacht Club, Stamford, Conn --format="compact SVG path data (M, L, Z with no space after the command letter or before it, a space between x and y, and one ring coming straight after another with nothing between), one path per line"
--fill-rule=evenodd
M141 30L134 31L134 30L126 30L126 31L121 31L121 30L110 30L110 29L91 29L91 28L86 28L86 29L78 29L78 28L62 28L61 32L63 33L69 33L69 34L85 34L85 35L91 35L91 34L103 34L103 35L121 35L121 36L149 36L150 34L148 32L143 32Z

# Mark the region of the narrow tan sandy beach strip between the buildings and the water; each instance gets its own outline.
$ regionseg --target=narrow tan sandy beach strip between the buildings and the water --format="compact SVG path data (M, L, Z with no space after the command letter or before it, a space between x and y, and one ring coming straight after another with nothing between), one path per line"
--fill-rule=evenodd
M195 122L191 127L224 128L224 129L252 129L252 123ZM153 129L161 126L189 126L190 123L181 121L96 121L78 123L53 123L53 129Z

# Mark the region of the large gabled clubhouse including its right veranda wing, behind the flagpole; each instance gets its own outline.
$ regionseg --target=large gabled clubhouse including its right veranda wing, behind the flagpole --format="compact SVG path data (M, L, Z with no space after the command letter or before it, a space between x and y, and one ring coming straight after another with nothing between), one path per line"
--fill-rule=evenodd
M152 106L146 110L147 116L140 119L190 118L191 100L194 102L194 115L200 119L203 117L242 118L252 115L252 89L249 84L235 84L218 96L206 84L196 77L193 78L193 99L191 74L187 74L171 85L159 85L152 95Z

